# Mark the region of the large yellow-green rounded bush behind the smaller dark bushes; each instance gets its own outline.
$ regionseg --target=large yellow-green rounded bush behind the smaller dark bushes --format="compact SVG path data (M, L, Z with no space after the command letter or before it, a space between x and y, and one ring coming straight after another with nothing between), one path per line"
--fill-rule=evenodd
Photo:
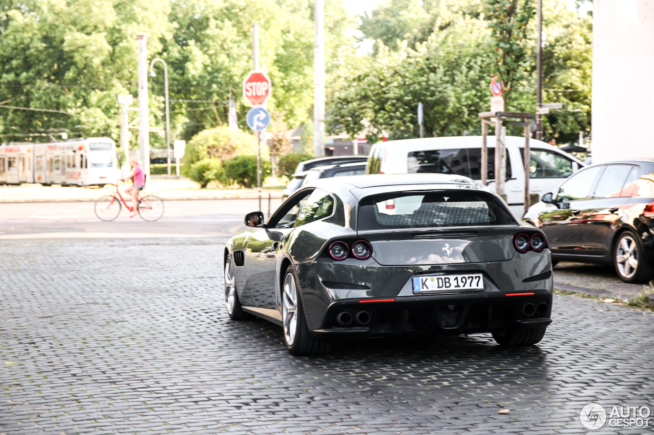
M262 158L267 157L267 146L262 146ZM254 136L243 130L234 130L223 125L199 132L186 143L182 159L182 172L190 176L192 165L203 159L218 159L222 162L237 155L256 154ZM264 155L265 154L265 155Z

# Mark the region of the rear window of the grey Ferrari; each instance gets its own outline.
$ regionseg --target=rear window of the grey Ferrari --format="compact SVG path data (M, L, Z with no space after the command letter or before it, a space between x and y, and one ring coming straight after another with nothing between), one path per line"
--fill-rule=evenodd
M439 190L365 197L358 230L515 225L502 202L486 192Z

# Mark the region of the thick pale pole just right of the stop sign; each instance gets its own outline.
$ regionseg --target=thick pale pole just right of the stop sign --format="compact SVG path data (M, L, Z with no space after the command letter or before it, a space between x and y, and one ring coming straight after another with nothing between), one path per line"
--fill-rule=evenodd
M325 153L325 29L324 0L315 0L316 39L313 45L313 153Z

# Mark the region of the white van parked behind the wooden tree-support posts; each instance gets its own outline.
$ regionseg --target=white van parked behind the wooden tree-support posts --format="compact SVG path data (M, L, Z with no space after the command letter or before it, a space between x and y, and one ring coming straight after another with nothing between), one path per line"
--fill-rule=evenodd
M456 174L480 180L481 136L433 137L379 142L370 149L366 174ZM489 187L494 189L495 137L489 147ZM506 137L506 184L504 193L516 216L525 212L524 137ZM540 140L530 139L531 177L529 192L554 191L583 163Z

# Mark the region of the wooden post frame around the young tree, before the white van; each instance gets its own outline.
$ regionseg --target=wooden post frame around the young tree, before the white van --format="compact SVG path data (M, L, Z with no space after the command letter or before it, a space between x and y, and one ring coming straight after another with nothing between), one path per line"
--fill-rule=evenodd
M529 133L531 121L536 116L532 113L525 112L481 112L481 184L488 185L488 146L486 138L488 137L488 126L494 125L495 127L495 168L494 168L494 182L495 192L498 195L504 193L504 182L506 181L506 159L504 158L505 144L502 143L502 127L506 125L522 125L525 127L525 153L523 159L525 163L525 212L530 206L529 201L529 177L531 157L529 151ZM495 121L490 121L489 118L495 118ZM509 121L511 119L519 119L520 121Z

